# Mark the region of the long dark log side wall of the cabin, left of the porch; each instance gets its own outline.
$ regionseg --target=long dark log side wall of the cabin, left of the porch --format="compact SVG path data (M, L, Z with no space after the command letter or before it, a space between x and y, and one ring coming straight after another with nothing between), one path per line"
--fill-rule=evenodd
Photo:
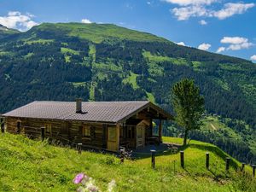
M18 131L20 122L20 131ZM51 131L45 131L45 137L61 143L83 143L88 148L107 148L108 125L82 121L63 121L51 119L6 118L6 130L10 133L24 134L31 138L41 137L41 127L50 125ZM83 136L84 127L89 127L90 136Z

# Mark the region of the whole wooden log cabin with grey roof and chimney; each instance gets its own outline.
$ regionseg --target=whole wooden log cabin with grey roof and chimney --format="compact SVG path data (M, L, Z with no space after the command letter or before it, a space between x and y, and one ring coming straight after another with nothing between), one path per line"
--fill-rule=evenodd
M162 120L172 115L151 102L32 102L4 113L6 131L83 147L118 151L161 143ZM153 121L158 135L153 135ZM42 128L44 127L44 128Z

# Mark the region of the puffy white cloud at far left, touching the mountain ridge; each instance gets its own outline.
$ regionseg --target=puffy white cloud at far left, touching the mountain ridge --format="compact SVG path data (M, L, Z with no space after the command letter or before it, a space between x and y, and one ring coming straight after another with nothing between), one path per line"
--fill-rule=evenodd
M32 26L37 26L38 23L32 20L34 15L26 13L22 15L19 11L9 11L7 16L0 16L0 24L8 28L26 31Z

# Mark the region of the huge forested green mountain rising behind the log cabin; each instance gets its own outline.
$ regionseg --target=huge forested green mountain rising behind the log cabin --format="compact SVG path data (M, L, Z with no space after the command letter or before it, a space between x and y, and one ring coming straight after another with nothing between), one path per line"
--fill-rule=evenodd
M207 116L218 116L226 127L191 137L215 142L240 160L255 160L256 65L251 61L111 24L44 23L0 38L0 113L34 100L77 97L148 99L172 112L172 84L182 78L195 79ZM180 130L168 124L165 134Z

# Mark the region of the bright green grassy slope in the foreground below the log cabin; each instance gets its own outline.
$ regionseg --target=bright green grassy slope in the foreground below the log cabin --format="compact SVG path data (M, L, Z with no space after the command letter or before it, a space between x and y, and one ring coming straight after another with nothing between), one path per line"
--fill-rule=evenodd
M182 142L172 137L164 137L164 141ZM112 154L78 154L72 148L6 133L0 139L0 191L74 191L78 186L72 180L79 172L96 179L103 191L112 179L117 183L116 191L255 191L255 179L235 171L238 161L232 159L230 172L224 172L228 155L216 146L191 141L183 149L185 169L179 166L178 153L166 152L156 157L153 170L150 157L119 164ZM206 152L211 158L209 171L205 168ZM251 168L247 167L247 172L251 174Z

